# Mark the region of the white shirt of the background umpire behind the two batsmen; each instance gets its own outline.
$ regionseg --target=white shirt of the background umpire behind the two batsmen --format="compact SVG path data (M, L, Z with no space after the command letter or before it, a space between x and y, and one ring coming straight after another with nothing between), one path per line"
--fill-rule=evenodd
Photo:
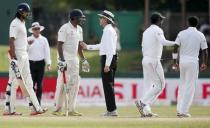
M31 40L33 40L33 43L29 46L28 49L29 60L45 60L46 64L50 65L50 47L47 38L45 38L41 34L37 38L31 35L28 37L28 41Z

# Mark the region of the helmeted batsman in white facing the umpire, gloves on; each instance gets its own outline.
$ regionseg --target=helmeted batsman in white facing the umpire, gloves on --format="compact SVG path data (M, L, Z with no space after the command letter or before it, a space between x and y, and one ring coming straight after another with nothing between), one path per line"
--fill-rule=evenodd
M62 71L67 68L67 88L69 89L69 113L70 116L81 116L75 110L77 94L80 85L79 58L82 59L82 71L89 72L89 63L83 55L82 47L79 45L83 41L83 30L79 25L84 21L85 16L80 9L70 12L70 21L58 31L58 78L55 93L54 115L61 115L64 99L64 84Z

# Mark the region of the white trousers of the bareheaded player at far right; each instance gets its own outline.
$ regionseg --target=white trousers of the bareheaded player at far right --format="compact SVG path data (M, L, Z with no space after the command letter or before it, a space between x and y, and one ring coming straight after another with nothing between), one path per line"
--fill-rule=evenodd
M180 62L180 80L177 112L187 114L192 104L198 79L198 62Z

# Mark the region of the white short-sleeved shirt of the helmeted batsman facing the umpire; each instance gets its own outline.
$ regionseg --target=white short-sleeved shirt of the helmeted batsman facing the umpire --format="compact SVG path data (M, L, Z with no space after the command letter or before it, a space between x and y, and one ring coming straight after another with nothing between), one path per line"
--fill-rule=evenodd
M61 26L58 31L58 41L64 42L63 55L65 60L72 60L77 57L79 41L83 41L82 27L74 27L71 22Z

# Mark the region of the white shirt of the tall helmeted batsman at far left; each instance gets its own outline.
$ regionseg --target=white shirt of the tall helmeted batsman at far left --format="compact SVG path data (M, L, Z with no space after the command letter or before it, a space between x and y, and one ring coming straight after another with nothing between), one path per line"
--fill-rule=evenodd
M25 22L21 21L18 18L15 18L11 24L9 29L9 37L15 38L15 52L21 51L23 53L27 53L27 31L25 27Z

